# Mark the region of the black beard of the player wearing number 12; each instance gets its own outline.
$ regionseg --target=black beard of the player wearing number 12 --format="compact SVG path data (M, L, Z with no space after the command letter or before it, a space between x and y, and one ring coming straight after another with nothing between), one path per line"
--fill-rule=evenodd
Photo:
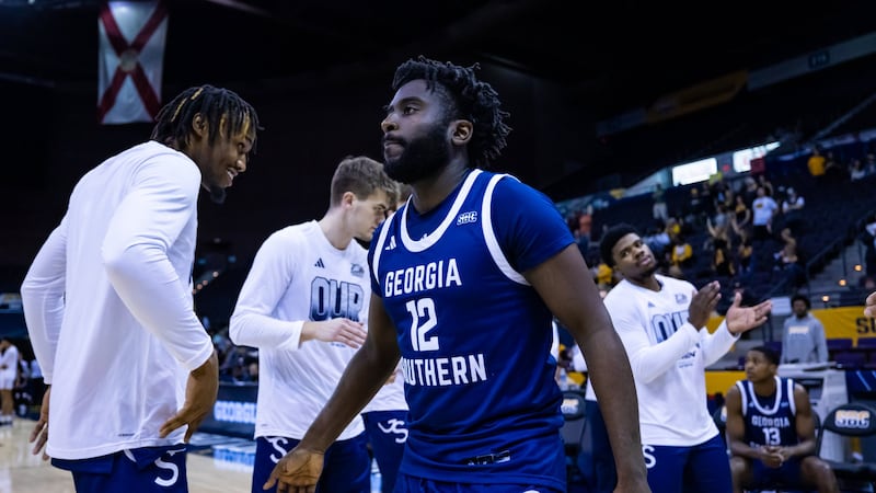
M419 182L438 174L450 162L447 125L434 125L426 135L400 144L401 154L395 158L383 157L383 170L396 182Z

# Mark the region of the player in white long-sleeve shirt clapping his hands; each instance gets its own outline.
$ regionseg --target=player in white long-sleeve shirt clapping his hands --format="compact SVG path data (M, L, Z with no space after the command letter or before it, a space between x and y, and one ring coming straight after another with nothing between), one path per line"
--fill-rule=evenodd
M602 234L600 254L623 276L604 302L633 369L652 491L729 493L726 447L706 405L705 368L742 332L761 325L772 303L744 308L737 293L724 322L710 333L705 324L721 298L718 283L696 290L657 274L650 248L625 223ZM608 420L599 388L596 394Z

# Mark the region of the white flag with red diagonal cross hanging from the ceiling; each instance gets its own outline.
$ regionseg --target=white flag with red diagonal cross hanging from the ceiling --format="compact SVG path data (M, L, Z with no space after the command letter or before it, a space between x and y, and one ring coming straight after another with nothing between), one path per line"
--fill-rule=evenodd
M102 124L154 122L161 108L168 33L164 0L104 0L97 28L97 119Z

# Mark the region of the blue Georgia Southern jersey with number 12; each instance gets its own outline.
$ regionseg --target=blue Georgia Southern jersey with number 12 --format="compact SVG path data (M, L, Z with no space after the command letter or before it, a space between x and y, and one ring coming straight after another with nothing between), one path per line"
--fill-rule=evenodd
M552 314L520 272L573 242L546 196L481 170L381 225L369 262L402 354L402 472L565 488Z

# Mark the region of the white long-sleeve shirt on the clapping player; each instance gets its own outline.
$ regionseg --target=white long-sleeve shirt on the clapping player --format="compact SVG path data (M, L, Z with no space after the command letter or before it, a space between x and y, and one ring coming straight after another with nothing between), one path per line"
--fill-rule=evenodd
M657 280L659 291L621 280L606 308L633 369L642 443L694 446L718 434L706 405L705 368L738 337L725 323L713 333L698 331L688 322L696 288L661 275Z

